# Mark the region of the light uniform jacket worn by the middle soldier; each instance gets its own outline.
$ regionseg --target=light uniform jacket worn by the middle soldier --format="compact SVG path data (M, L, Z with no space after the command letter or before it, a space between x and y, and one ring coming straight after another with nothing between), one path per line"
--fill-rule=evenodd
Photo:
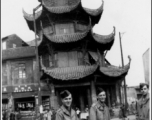
M90 108L89 120L110 120L108 107L99 101L94 103Z

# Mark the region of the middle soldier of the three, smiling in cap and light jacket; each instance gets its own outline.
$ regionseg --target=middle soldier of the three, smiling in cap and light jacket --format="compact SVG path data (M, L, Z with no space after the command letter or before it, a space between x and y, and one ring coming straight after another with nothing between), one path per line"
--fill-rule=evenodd
M109 109L105 104L106 92L102 88L97 90L97 102L90 108L90 120L110 120Z

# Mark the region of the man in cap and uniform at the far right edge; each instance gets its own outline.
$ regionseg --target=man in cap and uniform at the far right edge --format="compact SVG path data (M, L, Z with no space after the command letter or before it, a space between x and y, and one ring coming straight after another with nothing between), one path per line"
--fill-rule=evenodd
M140 84L142 97L137 103L137 119L138 120L149 120L149 85L146 83Z

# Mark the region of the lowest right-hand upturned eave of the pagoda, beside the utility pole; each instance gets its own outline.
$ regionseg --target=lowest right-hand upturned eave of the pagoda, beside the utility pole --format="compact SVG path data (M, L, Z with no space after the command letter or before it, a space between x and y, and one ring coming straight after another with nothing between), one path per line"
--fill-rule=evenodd
M109 77L121 77L123 75L127 75L130 68L130 62L131 62L131 59L129 58L129 63L125 65L124 67L100 66L100 72Z

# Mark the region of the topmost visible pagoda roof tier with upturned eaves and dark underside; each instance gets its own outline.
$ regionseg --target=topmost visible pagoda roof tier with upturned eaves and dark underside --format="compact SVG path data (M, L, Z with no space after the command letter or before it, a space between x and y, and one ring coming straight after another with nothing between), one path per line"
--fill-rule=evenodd
M82 20L88 21L89 18L92 20L92 25L95 25L99 22L102 12L104 2L102 1L101 6L98 9L89 9L82 6L81 0L66 0L65 5L55 5L54 0L42 0L42 10L35 13L35 20L37 26L40 27L40 21L44 18L50 19L51 22L57 22L61 18L67 16L68 20ZM28 26L31 30L34 31L33 14L28 14L23 10L24 18L26 19ZM56 17L55 17L56 16ZM80 17L81 16L81 19ZM43 20L42 20L43 22Z

